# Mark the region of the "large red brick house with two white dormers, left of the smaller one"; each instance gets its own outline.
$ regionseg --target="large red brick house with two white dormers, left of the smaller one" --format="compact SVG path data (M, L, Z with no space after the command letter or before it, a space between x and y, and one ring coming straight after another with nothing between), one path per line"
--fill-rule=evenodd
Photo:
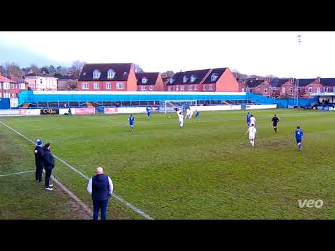
M78 79L79 91L137 91L133 63L87 63Z

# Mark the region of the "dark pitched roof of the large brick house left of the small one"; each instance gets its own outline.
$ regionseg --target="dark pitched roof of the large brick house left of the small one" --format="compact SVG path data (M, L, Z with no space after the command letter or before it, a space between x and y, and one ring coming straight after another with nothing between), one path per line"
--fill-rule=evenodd
M94 80L113 80L124 81L128 79L129 72L131 71L132 63L87 63L82 68L79 81L94 81ZM99 70L101 75L98 79L93 78L94 70ZM108 70L114 70L114 78L107 78ZM124 74L126 73L126 74Z

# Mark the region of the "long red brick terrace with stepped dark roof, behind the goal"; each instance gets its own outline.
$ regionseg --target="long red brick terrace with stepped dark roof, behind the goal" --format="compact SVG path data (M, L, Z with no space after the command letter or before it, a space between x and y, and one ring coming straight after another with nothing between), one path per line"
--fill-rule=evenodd
M239 83L228 68L190 70L170 78L165 91L239 91Z

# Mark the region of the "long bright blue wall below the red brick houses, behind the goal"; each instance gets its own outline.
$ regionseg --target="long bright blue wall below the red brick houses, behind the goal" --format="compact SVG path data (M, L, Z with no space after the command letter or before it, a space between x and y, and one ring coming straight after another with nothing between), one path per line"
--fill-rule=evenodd
M288 106L298 105L298 106L310 106L313 102L318 101L318 97L315 98L299 98L299 104L295 103L295 100L292 98L285 99L276 99L269 98L266 96L256 95L254 93L245 93L245 94L211 94L211 93L197 93L197 94L174 94L174 93L162 93L162 94L153 94L147 93L146 95L138 94L34 94L34 91L22 91L19 94L19 106L24 103L38 103L38 102L103 102L103 101L165 101L165 100L252 100L257 102L260 105L270 105L276 104L278 107L288 108ZM243 105L242 105L242 108Z

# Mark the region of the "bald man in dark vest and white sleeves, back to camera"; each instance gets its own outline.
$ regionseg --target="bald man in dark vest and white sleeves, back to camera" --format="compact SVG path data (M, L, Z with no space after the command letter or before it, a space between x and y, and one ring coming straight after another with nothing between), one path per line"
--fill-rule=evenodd
M101 211L101 220L106 220L107 204L113 193L113 183L110 177L103 174L102 167L98 167L96 175L89 179L87 191L92 195L93 220L98 220L99 211Z

